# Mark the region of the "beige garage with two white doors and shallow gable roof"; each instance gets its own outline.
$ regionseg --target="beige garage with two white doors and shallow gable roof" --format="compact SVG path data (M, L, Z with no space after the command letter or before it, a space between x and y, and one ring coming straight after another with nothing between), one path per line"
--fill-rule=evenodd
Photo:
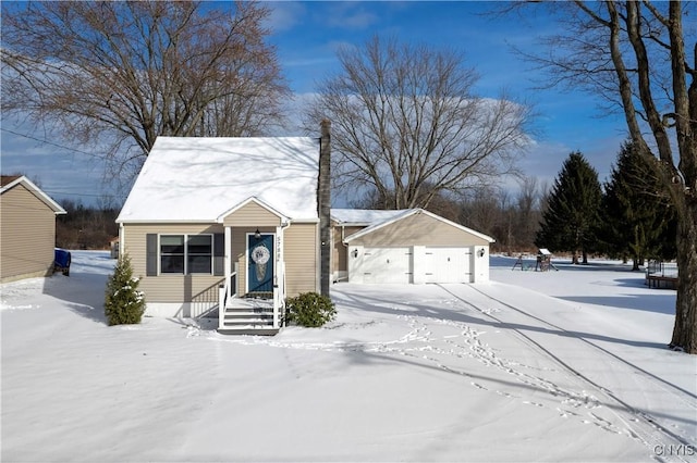
M343 248L346 253L345 259L339 259L335 273L345 275L350 283L489 279L489 245L494 241L491 237L421 209L384 211L383 217L378 216L376 222L365 225L357 221L342 222L342 211L332 210L334 237L341 235L343 245L334 249L341 252ZM355 220L359 211L353 210L351 215ZM353 233L347 235L346 230Z

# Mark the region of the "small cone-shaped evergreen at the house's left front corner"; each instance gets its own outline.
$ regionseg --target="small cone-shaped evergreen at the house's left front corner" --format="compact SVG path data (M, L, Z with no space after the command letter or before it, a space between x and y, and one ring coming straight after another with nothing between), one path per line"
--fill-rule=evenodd
M107 281L105 315L109 326L140 323L145 313L145 298L143 291L138 291L138 280L133 277L131 259L121 255L113 275Z

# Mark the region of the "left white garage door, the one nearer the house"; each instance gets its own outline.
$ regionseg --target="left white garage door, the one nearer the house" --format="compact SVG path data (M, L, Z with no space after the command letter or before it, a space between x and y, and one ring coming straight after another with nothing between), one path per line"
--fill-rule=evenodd
M412 250L365 248L357 271L365 283L412 283Z

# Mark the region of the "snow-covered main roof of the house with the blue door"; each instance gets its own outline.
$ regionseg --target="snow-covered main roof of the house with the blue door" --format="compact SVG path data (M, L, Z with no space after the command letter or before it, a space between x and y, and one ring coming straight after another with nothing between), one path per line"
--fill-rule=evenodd
M117 222L216 222L255 199L317 220L319 141L158 137Z

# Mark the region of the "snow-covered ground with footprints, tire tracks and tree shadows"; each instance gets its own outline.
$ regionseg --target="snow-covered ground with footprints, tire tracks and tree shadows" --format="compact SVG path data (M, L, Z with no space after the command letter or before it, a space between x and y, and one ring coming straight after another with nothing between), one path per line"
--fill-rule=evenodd
M627 266L332 287L274 337L109 327L113 261L0 286L2 461L697 461L697 358L675 291ZM147 297L147 295L146 295Z

